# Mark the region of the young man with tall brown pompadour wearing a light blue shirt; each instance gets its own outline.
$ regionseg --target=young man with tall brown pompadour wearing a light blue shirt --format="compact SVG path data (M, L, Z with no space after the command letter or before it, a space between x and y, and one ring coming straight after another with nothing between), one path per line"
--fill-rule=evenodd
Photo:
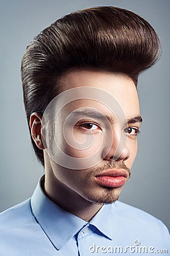
M117 7L66 15L29 44L24 104L45 175L1 214L1 255L170 251L162 221L117 201L137 154L138 75L160 48L146 20Z

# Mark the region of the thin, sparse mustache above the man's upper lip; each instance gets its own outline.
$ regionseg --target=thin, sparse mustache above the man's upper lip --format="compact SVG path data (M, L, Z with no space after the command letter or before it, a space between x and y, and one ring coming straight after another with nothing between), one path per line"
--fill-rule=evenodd
M92 170L93 175L101 174L103 171L106 169L124 169L125 171L128 172L128 175L130 177L131 171L130 169L126 166L125 163L118 163L118 162L111 162L111 163L104 163L102 166L95 167Z

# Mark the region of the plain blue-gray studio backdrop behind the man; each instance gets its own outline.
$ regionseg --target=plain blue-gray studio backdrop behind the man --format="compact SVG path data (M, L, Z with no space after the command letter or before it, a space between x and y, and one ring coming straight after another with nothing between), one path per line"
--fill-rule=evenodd
M0 211L32 195L43 174L35 158L25 118L20 60L27 44L54 20L91 6L113 5L147 19L163 44L159 63L139 79L139 152L121 200L160 218L169 214L169 0L6 0L1 1L1 179Z

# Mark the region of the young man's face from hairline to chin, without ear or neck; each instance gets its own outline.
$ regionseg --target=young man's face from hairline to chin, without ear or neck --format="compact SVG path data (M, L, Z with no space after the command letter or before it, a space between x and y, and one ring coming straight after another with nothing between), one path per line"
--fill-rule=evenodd
M81 96L70 101L55 119L56 141L66 155L80 160L79 168L69 168L67 159L63 159L66 165L61 166L51 160L46 152L45 162L50 163L54 184L59 184L60 189L76 193L93 203L113 203L130 176L137 154L137 134L141 125L138 94L129 77L87 70L67 73L62 79L61 92L73 88L83 90L84 86L89 90L94 88L96 94L101 90L110 94L113 102L117 102L120 107L122 116L117 116L116 113L120 112L112 111L105 102L94 100L97 97L94 95L91 99ZM75 115L71 126L69 122ZM68 116L70 119L67 119ZM69 137L71 139L68 143ZM91 143L84 147L88 140ZM52 151L55 154L54 147ZM89 158L87 168L82 168L86 158Z

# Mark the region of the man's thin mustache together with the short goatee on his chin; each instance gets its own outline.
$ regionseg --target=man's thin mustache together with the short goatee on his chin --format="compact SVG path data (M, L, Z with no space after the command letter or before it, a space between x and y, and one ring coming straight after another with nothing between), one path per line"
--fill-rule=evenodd
M117 170L118 169L126 170L128 172L127 180L131 175L130 169L126 167L124 163L113 162L113 163L105 163L103 164L103 166L98 166L93 168L90 172L88 172L87 180L90 179L92 176L101 174L103 171L109 168L116 168ZM118 200L121 191L122 191L122 187L118 187L118 188L103 187L103 191L101 193L96 193L93 195L87 193L86 200L95 204L112 204Z

